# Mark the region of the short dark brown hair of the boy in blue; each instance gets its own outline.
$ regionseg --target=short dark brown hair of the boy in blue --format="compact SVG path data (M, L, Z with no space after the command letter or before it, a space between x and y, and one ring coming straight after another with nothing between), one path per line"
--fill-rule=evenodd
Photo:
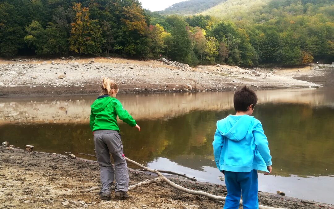
M247 111L249 105L253 105L252 109L258 102L258 97L253 89L243 86L234 93L233 103L235 111Z

